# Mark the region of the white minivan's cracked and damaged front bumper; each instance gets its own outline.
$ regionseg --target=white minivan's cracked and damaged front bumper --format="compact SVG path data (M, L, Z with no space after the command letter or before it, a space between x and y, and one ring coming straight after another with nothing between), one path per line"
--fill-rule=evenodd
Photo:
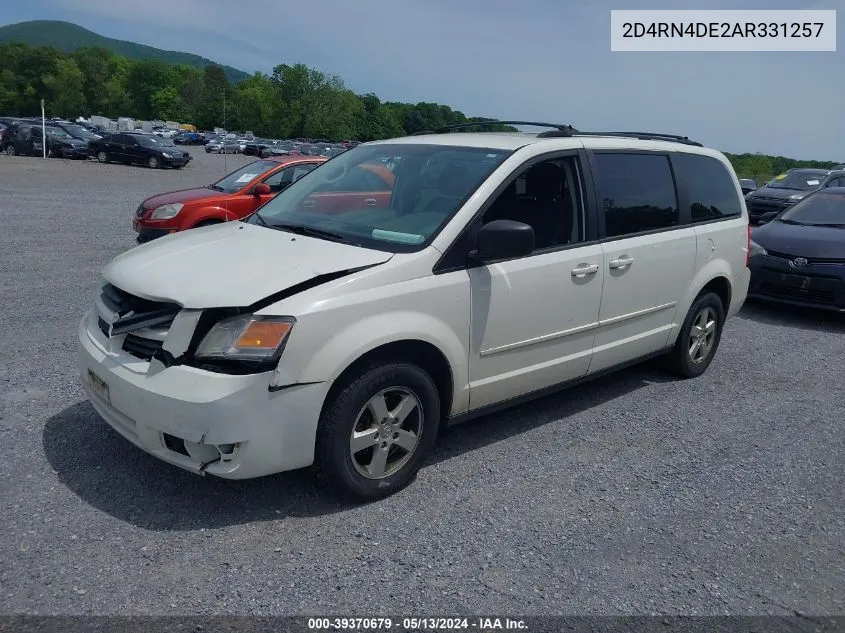
M83 385L100 414L144 451L195 473L247 479L308 466L328 383L270 390L274 372L165 367L123 349L90 310L79 325Z

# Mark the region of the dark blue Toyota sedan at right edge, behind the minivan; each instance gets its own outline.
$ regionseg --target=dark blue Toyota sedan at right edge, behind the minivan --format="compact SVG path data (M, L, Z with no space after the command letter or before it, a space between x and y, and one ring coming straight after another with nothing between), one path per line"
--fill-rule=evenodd
M748 296L845 312L845 187L763 220L751 234Z

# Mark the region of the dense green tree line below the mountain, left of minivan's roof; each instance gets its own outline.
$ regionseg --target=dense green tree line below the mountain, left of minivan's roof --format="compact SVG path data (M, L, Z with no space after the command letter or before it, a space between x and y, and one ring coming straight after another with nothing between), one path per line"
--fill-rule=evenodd
M369 141L486 120L437 103L359 95L340 77L304 64L280 64L269 75L257 72L233 84L217 65L200 70L131 60L99 47L65 53L0 44L0 114L38 116L42 98L48 116L131 116L193 123L199 129L250 130L270 138Z

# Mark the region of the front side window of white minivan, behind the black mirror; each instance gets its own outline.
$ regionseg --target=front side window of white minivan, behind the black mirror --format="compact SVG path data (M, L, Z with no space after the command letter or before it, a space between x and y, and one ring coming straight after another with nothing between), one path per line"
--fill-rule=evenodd
M581 171L575 156L524 169L493 202L482 222L514 220L534 229L535 251L584 241Z

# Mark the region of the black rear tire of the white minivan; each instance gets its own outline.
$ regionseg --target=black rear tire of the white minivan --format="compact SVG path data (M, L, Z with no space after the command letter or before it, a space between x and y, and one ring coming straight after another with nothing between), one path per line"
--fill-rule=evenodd
M699 327L702 323L702 315L705 315L705 321L714 322L714 329L712 332L712 339L707 338L706 332L699 336L699 347L693 353L693 340L696 338L696 331L694 328ZM722 328L725 324L725 307L722 305L722 300L714 292L705 292L693 302L687 313L684 323L681 326L681 331L678 333L678 340L675 346L667 356L669 368L682 378L697 378L703 374L713 357L716 355L716 350L719 349L719 341L722 340ZM703 338L702 338L703 336ZM706 353L701 352L701 347L704 342L707 342ZM700 358L694 358L698 354Z

